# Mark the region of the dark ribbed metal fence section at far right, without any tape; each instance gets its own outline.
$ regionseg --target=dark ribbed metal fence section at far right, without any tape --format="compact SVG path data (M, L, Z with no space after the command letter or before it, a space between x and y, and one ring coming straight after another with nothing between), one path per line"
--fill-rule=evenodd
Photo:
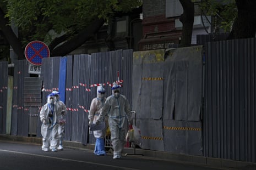
M206 44L204 156L256 161L255 49L255 38Z

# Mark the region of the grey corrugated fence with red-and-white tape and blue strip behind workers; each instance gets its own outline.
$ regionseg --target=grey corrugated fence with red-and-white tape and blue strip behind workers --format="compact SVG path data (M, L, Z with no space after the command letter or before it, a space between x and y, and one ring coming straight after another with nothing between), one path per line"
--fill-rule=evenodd
M52 90L59 90L62 75L59 68L66 69L66 127L64 140L78 141L82 144L94 142L94 137L88 134L88 111L90 103L96 97L95 84L105 83L106 95L111 95L110 84L123 80L121 93L131 101L133 50L116 50L113 52L94 53L91 55L74 55L66 57L66 67L61 57L42 60L43 104L46 96ZM60 63L62 66L60 66ZM37 136L41 137L40 127L37 127ZM88 139L89 137L89 139Z

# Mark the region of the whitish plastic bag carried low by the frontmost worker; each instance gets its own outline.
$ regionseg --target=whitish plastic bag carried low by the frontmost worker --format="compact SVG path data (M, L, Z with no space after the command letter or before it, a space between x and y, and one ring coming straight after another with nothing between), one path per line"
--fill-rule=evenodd
M126 134L126 141L132 142L134 145L141 145L140 129L135 125L132 126Z

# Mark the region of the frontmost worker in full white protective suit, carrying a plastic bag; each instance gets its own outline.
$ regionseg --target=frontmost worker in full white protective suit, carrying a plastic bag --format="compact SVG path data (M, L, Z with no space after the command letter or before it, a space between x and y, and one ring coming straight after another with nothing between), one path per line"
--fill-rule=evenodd
M127 98L120 94L120 86L113 83L112 95L105 101L101 109L100 116L96 123L99 124L108 116L108 126L111 132L111 142L113 145L113 159L121 158L121 154L126 143L126 132L128 121L132 124L132 114ZM127 121L128 120L128 121Z

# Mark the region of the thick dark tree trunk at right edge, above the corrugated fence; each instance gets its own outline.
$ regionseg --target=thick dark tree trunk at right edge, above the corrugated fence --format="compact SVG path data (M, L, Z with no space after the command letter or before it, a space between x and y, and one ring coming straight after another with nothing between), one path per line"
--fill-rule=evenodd
M256 1L236 0L238 15L227 39L253 38L256 31Z

